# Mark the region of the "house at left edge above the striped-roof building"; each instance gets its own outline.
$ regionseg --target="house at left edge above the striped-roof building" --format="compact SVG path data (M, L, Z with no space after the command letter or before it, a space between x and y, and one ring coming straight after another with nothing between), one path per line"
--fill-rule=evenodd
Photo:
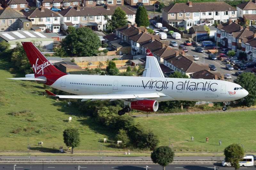
M24 18L20 13L5 8L0 10L0 30L3 31L16 31L19 28L19 19Z

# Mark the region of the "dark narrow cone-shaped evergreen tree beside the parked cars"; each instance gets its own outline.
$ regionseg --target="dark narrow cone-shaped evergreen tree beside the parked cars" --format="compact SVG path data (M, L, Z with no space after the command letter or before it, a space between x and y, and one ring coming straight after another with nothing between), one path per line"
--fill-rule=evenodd
M139 6L136 14L135 14L135 23L137 26L148 26L149 21L148 21L148 12L145 9L145 6Z

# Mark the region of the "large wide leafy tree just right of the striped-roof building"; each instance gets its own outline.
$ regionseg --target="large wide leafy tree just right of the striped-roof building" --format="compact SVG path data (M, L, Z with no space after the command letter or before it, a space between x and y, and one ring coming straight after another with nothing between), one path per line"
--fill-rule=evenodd
M89 27L80 27L70 32L61 44L69 55L77 57L95 55L100 45L100 38Z

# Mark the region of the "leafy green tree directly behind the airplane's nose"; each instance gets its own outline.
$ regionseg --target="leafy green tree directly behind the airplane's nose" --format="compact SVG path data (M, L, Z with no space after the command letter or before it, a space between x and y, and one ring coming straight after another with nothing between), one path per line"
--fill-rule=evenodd
M234 80L234 83L239 84L249 92L249 94L244 98L236 100L236 104L247 107L256 104L256 101L254 100L256 98L255 82L256 77L253 73L250 72L240 74L239 77L237 77L237 79Z

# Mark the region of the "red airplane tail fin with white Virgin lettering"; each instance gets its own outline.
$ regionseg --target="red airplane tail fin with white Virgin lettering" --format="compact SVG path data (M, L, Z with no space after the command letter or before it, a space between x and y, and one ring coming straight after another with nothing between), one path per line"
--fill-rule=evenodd
M28 60L36 74L61 74L60 70L55 68L47 58L36 48L32 42L21 42L28 56Z

